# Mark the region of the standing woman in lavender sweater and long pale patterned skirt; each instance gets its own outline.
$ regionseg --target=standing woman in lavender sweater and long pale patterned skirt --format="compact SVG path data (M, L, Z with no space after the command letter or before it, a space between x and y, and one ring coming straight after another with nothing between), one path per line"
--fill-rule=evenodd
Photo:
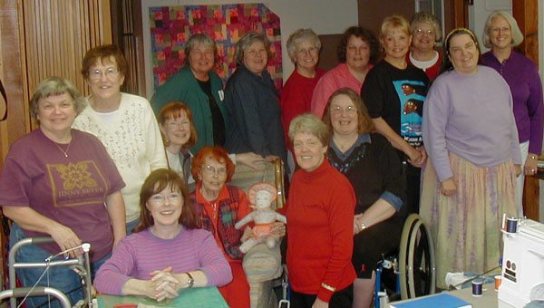
M447 272L483 273L499 264L500 219L517 216L516 175L521 172L516 122L508 84L478 65L471 30L446 37L442 73L423 105L420 215L435 241L436 284Z

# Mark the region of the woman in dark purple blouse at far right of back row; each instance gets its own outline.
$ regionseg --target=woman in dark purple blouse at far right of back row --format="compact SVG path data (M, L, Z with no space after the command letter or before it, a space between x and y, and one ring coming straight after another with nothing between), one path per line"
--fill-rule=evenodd
M509 13L491 13L485 23L482 38L483 44L491 51L482 55L481 63L499 72L512 92L523 166L523 173L518 177L518 205L522 216L524 175L537 173L537 160L542 150L542 83L537 65L513 50L514 46L523 41L523 34Z

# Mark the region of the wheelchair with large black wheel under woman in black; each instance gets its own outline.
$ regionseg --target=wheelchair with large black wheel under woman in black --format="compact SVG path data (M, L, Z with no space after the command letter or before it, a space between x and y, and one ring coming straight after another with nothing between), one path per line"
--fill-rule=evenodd
M396 286L382 282L384 270L393 271ZM380 299L391 296L405 300L428 294L436 289L436 266L431 230L417 214L411 214L404 221L398 255L384 256L376 269L374 307L380 308ZM384 291L382 291L384 290ZM391 295L388 295L391 294Z

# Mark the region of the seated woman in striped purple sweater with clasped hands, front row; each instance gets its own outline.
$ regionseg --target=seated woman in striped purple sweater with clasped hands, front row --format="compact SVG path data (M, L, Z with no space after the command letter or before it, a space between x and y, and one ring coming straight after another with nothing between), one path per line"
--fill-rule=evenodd
M183 288L228 284L228 262L197 228L187 184L169 169L151 172L140 192L140 225L102 265L94 287L103 294L144 295L158 302Z

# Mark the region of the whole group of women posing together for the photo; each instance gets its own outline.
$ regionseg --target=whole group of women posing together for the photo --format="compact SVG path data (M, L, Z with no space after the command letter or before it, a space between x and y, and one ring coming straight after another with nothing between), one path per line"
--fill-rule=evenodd
M386 17L377 38L353 26L339 43L340 64L325 72L318 36L300 29L287 40L296 68L278 95L265 35L240 38L223 89L215 43L195 34L186 66L152 99L158 121L148 101L121 92L121 51L93 48L82 69L91 95L62 78L41 82L31 101L39 128L5 159L0 204L14 221L11 244L44 234L54 241L24 247L17 261L77 255L71 249L89 242L99 292L162 301L215 285L230 306L248 307L239 245L253 234L234 225L250 207L227 183L237 164L287 163L289 149L294 307L370 306L377 261L398 247L411 212L431 226L440 287L447 272L494 267L502 214L522 213L516 176L537 171L539 74L512 50L522 35L510 14L488 18L483 56L471 30L454 29L442 53L441 38L425 13L411 23ZM272 232L284 236L286 225ZM28 286L42 273L18 271ZM83 296L70 269L51 268L49 283L73 303Z

